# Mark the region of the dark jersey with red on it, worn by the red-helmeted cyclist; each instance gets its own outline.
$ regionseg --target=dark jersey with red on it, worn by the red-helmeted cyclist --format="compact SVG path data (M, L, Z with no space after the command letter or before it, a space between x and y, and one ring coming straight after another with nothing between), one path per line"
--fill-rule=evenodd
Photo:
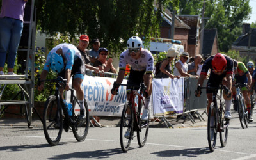
M229 56L226 56L225 54L223 54L227 60L227 67L225 68L225 70L223 71L223 74L233 74L233 66L234 66L234 62L232 60L232 58L230 58ZM214 74L213 69L212 69L212 59L214 58L214 56L210 56L209 58L207 58L207 60L205 60L203 68L201 70L201 74L207 75L207 72L209 69L211 69L211 74ZM210 75L211 77L211 75Z

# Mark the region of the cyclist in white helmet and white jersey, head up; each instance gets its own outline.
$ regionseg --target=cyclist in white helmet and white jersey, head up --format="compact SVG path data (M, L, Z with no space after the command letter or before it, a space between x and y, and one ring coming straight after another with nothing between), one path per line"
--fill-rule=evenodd
M111 93L116 95L118 92L119 86L121 84L124 75L126 64L131 66L130 75L127 81L127 85L140 85L142 82L145 83L147 90L143 94L145 97L145 108L141 116L141 120L148 120L148 105L150 102L150 95L152 92L152 79L153 79L153 68L154 68L154 58L150 51L143 49L141 47L142 40L138 36L132 36L127 41L128 49L120 54L119 61L119 73L116 79L116 84L114 84ZM138 90L139 88L136 88ZM129 91L131 90L130 86L127 86L127 99L129 99ZM127 113L129 115L129 113ZM129 137L129 129L125 132L125 137Z

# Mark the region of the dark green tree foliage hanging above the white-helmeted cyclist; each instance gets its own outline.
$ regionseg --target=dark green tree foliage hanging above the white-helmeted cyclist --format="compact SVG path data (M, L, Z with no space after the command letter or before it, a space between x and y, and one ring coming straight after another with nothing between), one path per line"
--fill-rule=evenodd
M111 53L120 53L132 35L145 36L149 40L159 33L161 12L169 2L36 0L38 29L49 35L60 32L71 37L84 33L90 39L99 38L101 46L107 47Z

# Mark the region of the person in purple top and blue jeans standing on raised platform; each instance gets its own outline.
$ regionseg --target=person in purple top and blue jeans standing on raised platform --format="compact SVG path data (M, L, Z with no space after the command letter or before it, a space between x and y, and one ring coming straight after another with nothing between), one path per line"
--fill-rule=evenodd
M23 29L23 17L28 0L3 0L0 13L0 75L4 75L4 63L8 51L8 74L13 68Z

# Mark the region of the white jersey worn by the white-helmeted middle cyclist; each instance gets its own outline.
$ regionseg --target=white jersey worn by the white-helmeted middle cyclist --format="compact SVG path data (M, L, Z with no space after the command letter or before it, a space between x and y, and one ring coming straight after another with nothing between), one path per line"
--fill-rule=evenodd
M132 70L143 71L146 73L153 73L154 58L150 51L141 48L141 56L138 59L131 58L129 49L120 54L119 70L125 70L126 64L129 64Z

